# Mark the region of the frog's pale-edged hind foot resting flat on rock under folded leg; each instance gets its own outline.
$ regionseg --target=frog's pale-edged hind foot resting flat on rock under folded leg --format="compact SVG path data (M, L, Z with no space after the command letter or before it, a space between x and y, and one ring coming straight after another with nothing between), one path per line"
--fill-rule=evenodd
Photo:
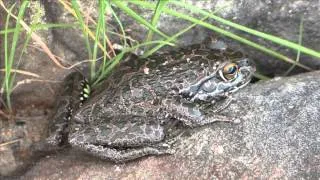
M102 159L110 160L115 163L122 163L148 155L163 155L174 153L173 150L166 144L163 146L157 145L155 147L146 146L141 148L127 149L115 149L103 145L94 145L86 143L73 143L72 145L94 156L98 156Z

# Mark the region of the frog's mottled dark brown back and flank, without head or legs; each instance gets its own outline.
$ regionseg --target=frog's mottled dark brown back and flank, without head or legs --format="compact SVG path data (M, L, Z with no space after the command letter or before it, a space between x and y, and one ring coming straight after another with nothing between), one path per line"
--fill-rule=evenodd
M95 121L119 114L157 113L163 100L180 98L180 89L213 73L217 64L229 60L229 56L228 51L197 45L146 59L131 58L117 67L78 115ZM90 118L92 114L94 118Z

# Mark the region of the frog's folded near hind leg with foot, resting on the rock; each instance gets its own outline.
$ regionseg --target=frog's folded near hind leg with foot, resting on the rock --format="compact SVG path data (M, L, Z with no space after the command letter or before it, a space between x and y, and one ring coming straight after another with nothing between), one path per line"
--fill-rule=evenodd
M114 118L116 123L98 123L71 133L69 143L94 156L118 163L147 155L173 153L171 146L163 141L163 129L158 121L130 115Z

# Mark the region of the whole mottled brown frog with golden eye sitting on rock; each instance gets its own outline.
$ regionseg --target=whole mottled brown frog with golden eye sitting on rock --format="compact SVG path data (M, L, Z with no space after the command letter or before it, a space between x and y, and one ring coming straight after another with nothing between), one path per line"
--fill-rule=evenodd
M71 144L114 162L173 153L171 146L184 129L232 121L219 111L250 82L255 68L248 59L231 58L227 52L191 46L131 58L81 107L83 77L69 75L48 142Z

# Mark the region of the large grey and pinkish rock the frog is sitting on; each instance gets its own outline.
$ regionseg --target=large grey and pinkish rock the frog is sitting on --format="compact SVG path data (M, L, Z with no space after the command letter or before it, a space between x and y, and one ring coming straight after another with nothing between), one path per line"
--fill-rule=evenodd
M76 150L21 179L319 179L320 71L252 84L221 114L240 123L186 130L174 155L112 164Z

